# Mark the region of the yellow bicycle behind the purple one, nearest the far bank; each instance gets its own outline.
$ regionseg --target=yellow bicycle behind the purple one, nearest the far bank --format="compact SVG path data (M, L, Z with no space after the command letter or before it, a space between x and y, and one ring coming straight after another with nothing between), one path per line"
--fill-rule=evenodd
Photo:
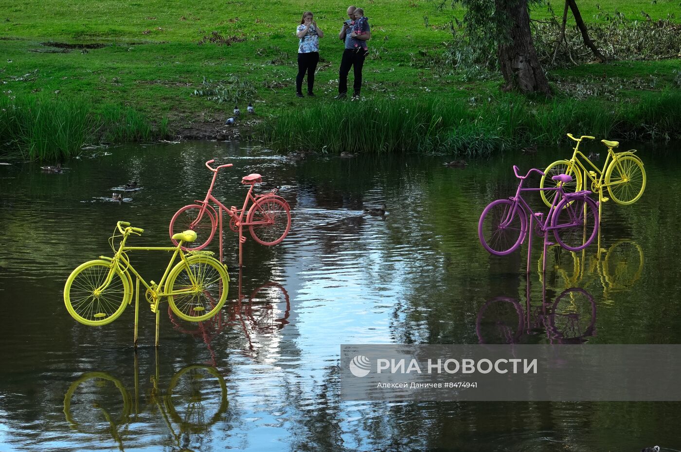
M595 137L582 135L580 138L575 138L570 133L567 136L577 141L572 158L556 160L550 164L541 177L540 188L562 184L563 191L566 193L578 192L584 190L582 184L586 183L585 179L588 177L591 179L590 190L599 194L601 202L609 199L603 196L605 188L610 198L618 204L627 205L638 201L646 188L646 170L643 168L642 160L634 155L636 150L614 152L614 149L620 145L618 141L601 140L601 143L607 147L607 156L603 162L603 169L599 169L579 150L583 139L595 139ZM585 163L588 163L590 168L587 168ZM572 180L567 183L554 181L552 177L559 174L570 175ZM540 193L544 203L550 207L556 192L542 190Z

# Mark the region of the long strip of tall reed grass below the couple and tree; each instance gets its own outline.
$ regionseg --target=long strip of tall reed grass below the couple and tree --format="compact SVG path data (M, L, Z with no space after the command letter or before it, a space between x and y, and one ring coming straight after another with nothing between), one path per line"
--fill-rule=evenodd
M597 137L672 137L681 130L681 92L650 93L637 103L528 101L509 95L469 105L441 99L321 103L281 111L260 133L278 150L450 152L485 155L567 133ZM655 136L654 136L655 135Z

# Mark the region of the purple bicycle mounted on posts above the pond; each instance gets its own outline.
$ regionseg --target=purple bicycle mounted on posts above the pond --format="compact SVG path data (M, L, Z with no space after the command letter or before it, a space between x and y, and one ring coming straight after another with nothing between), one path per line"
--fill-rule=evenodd
M572 176L558 174L552 179L558 184L550 188L522 188L522 181L536 171L530 169L526 175L518 174L518 167L513 165L513 172L520 179L516 196L508 199L498 199L482 211L477 232L480 243L492 254L505 256L516 251L524 241L534 222L535 232L539 237L545 237L548 231L553 231L556 241L570 251L580 251L595 239L598 232L598 206L591 198L588 190L566 193L563 185L572 181ZM522 198L521 192L537 192L554 190L553 203L546 218L543 212L533 212ZM529 222L528 225L528 213Z

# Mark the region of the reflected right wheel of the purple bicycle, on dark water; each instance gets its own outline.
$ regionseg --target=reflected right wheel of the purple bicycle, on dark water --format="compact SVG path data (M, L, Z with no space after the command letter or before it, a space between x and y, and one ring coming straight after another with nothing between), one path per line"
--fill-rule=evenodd
M559 343L582 343L593 336L596 303L582 288L569 288L556 298L548 315L548 334Z

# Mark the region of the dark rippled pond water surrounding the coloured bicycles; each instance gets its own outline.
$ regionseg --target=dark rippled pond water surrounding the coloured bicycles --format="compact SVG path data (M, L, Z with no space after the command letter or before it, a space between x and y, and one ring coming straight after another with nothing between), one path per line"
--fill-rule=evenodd
M513 164L543 168L567 148L460 169L444 156L296 161L195 142L116 147L66 162L61 174L0 166L1 449L681 449L678 402L345 402L338 389L341 344L680 343L681 147L637 149L643 197L605 203L600 250L550 247L545 275L539 241L526 273L526 246L491 256L477 222L490 201L513 194ZM162 305L157 351L144 297L137 352L134 303L107 326L74 321L63 302L69 273L112 255L118 220L144 228L130 245L170 245L170 218L203 198L210 158L234 164L214 190L228 207L242 203L249 173L281 186L287 238L265 247L249 237L239 271L227 230L225 307L189 324ZM140 190L111 201L131 180ZM364 215L381 205L385 215ZM148 279L168 257L131 253ZM566 301L573 287L583 292Z

